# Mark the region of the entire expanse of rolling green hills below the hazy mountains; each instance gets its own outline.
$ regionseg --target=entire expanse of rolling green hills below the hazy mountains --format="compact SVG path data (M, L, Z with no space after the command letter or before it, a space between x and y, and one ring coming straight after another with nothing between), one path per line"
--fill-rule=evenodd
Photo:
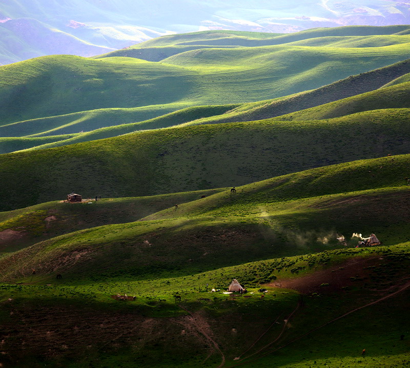
M410 365L410 26L42 56L0 107L0 366Z

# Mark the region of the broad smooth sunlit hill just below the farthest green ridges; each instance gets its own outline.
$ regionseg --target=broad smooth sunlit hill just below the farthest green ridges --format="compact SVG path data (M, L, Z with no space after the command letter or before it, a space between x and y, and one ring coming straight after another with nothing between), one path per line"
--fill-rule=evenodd
M389 33L405 27L370 27L367 31L359 27L349 32ZM323 32L332 33L332 29L317 30L315 35ZM213 34L193 36L209 39ZM190 39L192 35L178 37ZM249 38L250 43L264 41L257 37ZM175 40L160 37L158 42ZM159 105L158 116L165 109L257 101L311 90L408 58L407 44L357 48L265 45L191 50L161 63L60 55L4 66L0 68L0 100L5 111L1 125L95 109ZM141 115L139 119L152 117ZM107 121L109 117L100 127L108 126Z

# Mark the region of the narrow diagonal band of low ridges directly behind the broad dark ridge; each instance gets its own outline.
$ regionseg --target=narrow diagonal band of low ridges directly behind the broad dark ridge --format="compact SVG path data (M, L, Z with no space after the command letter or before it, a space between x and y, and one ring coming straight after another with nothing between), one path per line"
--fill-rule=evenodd
M76 142L118 136L136 130L166 128L181 124L197 125L213 124L215 122L249 121L278 116L375 90L383 86L389 86L388 81L397 84L397 81L402 80L400 79L400 75L404 74L403 81L405 81L405 73L410 70L409 68L410 63L408 60L405 60L404 62L399 62L391 66L342 79L316 90L277 98L275 100L237 105L198 106L143 121L141 120L145 117L149 117L150 114L151 116L155 116L160 112L167 112L167 108L169 109L170 107L167 105L162 107L155 105L129 109L99 109L20 121L0 126L0 134L5 137L18 135L30 138L67 133L76 134L71 137L61 137L63 139L48 137L47 139L54 143L46 144L42 144L42 142L38 142L35 139L24 140L25 145L19 145L21 141L19 138L4 140L3 153L31 147L59 147ZM405 103L405 101L403 102ZM387 108L389 105L385 104L384 107ZM138 122L123 124L130 120ZM187 122L189 122L189 124L187 124ZM92 130L101 125L107 125L108 127ZM91 131L87 131L88 129L91 129ZM86 130L86 132L81 133L83 130ZM13 142L15 142L15 144L13 144ZM37 145L37 143L39 144Z

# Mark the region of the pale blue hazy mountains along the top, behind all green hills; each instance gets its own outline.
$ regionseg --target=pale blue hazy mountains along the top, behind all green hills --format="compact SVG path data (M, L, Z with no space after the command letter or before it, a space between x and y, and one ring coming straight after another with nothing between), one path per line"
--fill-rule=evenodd
M120 49L167 33L410 23L410 0L2 0L0 64Z

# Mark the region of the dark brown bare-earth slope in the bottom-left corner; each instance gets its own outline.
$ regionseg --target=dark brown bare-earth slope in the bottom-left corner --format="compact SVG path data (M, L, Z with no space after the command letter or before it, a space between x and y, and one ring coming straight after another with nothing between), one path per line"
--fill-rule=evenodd
M3 308L10 315L6 323L0 324L2 361L6 366L31 356L93 360L101 351L114 353L125 346L154 360L161 357L148 357L150 349L175 349L181 355L210 349L191 316L152 318L129 312L44 305L19 310L12 299L3 303Z

